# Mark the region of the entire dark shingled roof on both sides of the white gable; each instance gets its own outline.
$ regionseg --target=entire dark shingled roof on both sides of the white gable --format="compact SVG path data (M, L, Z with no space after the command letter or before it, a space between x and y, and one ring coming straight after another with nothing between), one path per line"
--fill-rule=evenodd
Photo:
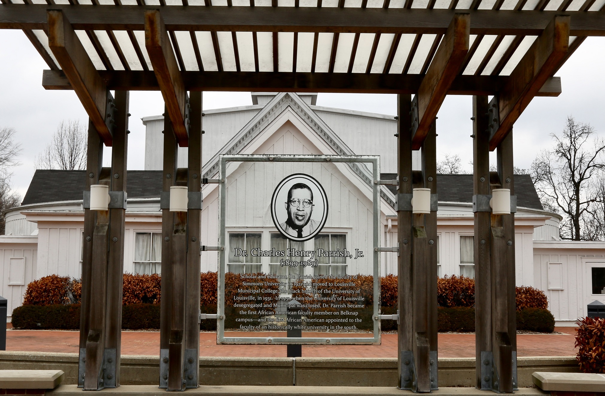
M382 179L395 179L394 173L382 173ZM21 205L82 199L85 171L36 170ZM396 186L388 188L397 193ZM159 197L162 191L162 171L128 171L126 192L129 198ZM472 174L440 174L437 176L440 201L473 202ZM528 174L515 175L517 205L542 209Z

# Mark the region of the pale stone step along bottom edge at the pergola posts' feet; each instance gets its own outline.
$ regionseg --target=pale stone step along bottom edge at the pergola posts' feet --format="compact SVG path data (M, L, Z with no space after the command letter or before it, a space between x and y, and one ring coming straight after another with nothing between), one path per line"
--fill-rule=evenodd
M166 396L165 389L153 385L122 385L119 388L103 389L98 392L103 396ZM382 386L200 386L187 389L186 395L216 396L401 396L414 395L411 391L400 391L397 388ZM82 389L76 385L62 385L47 392L47 396L82 395ZM434 396L490 396L491 391L479 391L476 388L440 388L433 391ZM537 388L521 388L515 391L516 396L549 396Z

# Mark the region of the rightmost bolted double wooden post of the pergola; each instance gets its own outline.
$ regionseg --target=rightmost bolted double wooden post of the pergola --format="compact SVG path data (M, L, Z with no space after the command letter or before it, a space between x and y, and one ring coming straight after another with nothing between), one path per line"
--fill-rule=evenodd
M508 188L514 196L512 130L497 147L498 171L490 178L487 110L487 97L475 96L476 378L479 389L512 392L517 388L514 210L511 214L492 214L489 208L490 184L492 188Z

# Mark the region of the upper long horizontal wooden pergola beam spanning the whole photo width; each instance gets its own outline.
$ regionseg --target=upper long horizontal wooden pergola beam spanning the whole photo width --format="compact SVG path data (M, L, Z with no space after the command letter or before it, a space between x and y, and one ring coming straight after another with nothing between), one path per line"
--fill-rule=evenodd
M47 10L63 10L76 30L144 30L160 10L168 30L445 34L460 10L337 7L175 7L172 5L0 4L0 28L45 29ZM465 10L473 35L540 35L557 11ZM572 36L605 36L603 14L566 11Z

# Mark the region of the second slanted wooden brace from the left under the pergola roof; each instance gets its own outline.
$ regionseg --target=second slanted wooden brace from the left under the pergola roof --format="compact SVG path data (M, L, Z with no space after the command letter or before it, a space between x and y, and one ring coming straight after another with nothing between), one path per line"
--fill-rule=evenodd
M181 72L178 70L177 59L168 38L166 25L162 21L162 16L158 10L147 10L145 12L145 47L153 65L160 91L162 91L178 145L187 147L189 133L186 106L189 99Z

